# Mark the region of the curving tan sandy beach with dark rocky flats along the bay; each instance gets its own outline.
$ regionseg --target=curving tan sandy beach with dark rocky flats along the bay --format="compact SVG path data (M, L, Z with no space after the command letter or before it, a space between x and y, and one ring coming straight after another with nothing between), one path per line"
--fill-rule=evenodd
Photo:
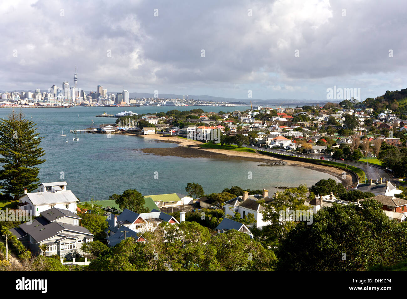
M131 135L131 134L130 134ZM171 142L177 143L180 146L175 148L143 148L141 151L143 153L155 154L160 156L177 156L177 157L188 157L188 158L212 158L212 159L239 159L239 160L246 160L246 161L254 161L254 162L261 162L267 163L270 161L277 161L280 160L275 157L270 157L266 155L262 155L259 153L248 153L248 152L239 152L239 151L230 151L230 150L221 150L221 149L212 149L212 148L201 148L199 142L197 140L189 140L180 138L178 136L168 136L164 137L160 134L154 135L138 135L137 137L142 138L152 138L157 140L158 142ZM328 173L334 177L340 179L344 186L348 186L352 184L352 175L348 172L347 178L342 179L342 173L344 170L330 167L330 166L319 166L311 163L300 162L300 161L287 161L287 165L297 166L297 167L304 167L312 170L316 170L319 172ZM260 163L259 163L260 164ZM263 167L273 167L273 166L263 166Z

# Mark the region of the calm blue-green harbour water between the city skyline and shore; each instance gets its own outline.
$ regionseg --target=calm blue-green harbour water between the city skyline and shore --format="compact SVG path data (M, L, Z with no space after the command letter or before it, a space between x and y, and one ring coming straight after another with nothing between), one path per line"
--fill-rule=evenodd
M116 118L97 118L106 111L116 114L131 110L139 114L172 109L204 111L245 110L247 107L72 107L23 108L26 118L37 123L37 132L46 162L39 165L42 182L66 181L68 189L81 200L108 199L127 189L136 189L143 195L179 192L185 194L187 183L202 185L206 193L221 192L224 188L240 186L243 189L263 189L275 192L275 186L313 185L320 179L333 176L294 166L261 167L258 162L230 159L160 157L143 154L137 149L175 147L177 144L157 142L131 135L78 134L79 141L69 130L85 129L99 124L114 123ZM11 108L1 108L0 118ZM68 137L61 137L62 128ZM158 172L158 179L154 179ZM252 172L252 179L248 179ZM63 176L63 178L61 178Z

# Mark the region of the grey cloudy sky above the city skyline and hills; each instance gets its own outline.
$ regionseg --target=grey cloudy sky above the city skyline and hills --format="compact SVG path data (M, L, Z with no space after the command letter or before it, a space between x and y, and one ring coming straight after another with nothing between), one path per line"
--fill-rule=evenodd
M72 84L76 65L84 90L324 100L336 85L364 100L406 88L406 9L404 0L2 0L0 89Z

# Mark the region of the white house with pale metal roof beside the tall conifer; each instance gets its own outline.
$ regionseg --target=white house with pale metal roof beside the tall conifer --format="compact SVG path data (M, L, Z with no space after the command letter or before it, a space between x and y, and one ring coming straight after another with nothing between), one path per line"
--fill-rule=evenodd
M38 192L24 193L20 196L18 209L30 211L35 217L53 207L76 214L79 200L71 190L66 190L67 185L66 182L41 183Z

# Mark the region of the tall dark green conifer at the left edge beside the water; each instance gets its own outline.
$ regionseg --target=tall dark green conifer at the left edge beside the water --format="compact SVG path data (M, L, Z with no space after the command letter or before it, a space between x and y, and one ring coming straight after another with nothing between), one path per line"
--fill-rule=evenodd
M0 125L0 189L12 194L15 200L24 193L38 188L37 178L39 168L45 160L39 159L45 155L39 147L41 137L34 138L36 133L32 121L24 118L24 114L14 110L6 119L1 119Z

